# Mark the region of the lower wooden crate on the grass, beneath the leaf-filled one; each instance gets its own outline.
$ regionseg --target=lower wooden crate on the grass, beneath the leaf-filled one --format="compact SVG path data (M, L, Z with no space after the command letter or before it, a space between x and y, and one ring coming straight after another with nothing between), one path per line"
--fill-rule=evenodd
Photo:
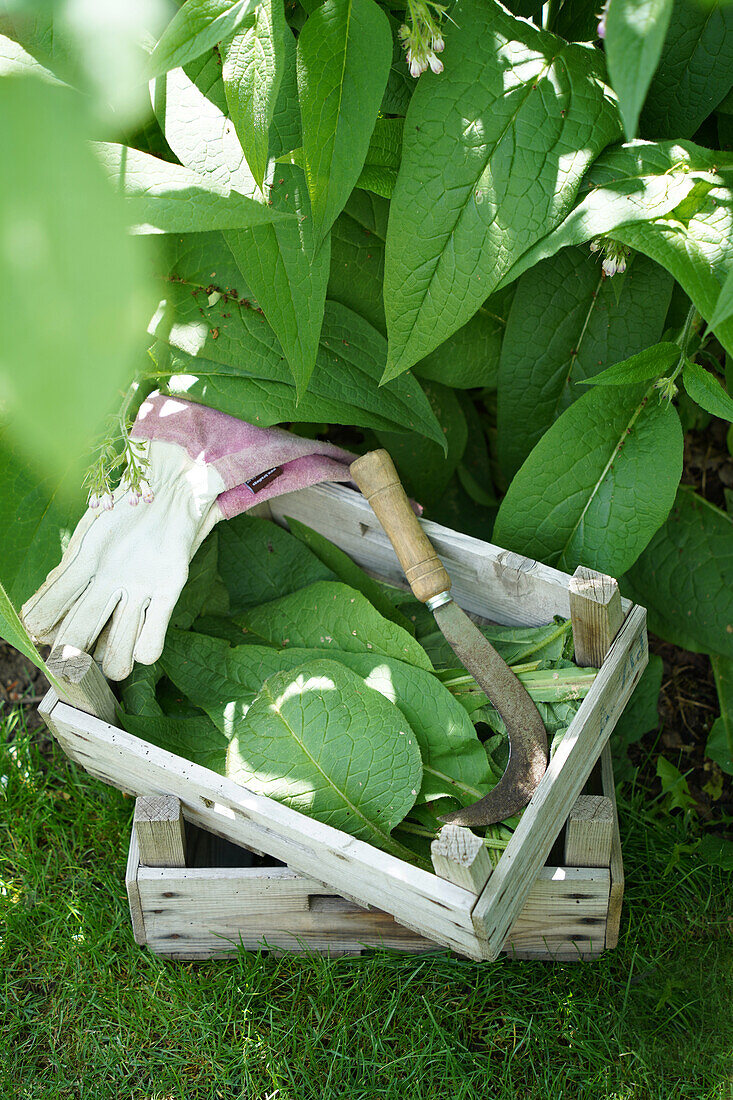
M616 944L623 865L608 746L601 759L597 789L603 794L578 799L560 838L562 866L540 869L504 943L506 955L579 961ZM135 942L155 955L190 960L228 958L238 947L331 957L373 947L441 949L389 913L363 909L183 822L173 795L138 799L125 886Z

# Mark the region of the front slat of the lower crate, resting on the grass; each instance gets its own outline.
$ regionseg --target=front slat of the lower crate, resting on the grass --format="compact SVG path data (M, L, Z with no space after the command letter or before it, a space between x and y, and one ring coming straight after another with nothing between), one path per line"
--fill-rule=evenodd
M149 947L177 958L226 957L240 943L329 953L439 948L387 913L329 895L288 868L140 868L138 884ZM599 954L609 886L608 870L543 868L504 952L570 959Z

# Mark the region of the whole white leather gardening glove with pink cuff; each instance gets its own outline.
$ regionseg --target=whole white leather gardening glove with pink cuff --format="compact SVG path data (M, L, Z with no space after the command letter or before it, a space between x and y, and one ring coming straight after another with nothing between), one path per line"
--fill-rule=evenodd
M331 443L161 394L144 402L131 436L149 462L143 503L121 485L110 510L87 510L21 612L36 639L57 646L88 652L103 631L98 656L111 680L161 656L188 564L215 524L283 493L348 482L353 460Z

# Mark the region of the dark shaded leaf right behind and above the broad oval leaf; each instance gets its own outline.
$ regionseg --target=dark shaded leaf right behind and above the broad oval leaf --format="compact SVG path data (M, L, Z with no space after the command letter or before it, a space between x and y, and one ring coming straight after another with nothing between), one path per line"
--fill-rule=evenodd
M499 367L497 451L507 479L582 396L578 382L657 342L671 288L667 272L646 256L605 278L587 249L565 249L525 272Z

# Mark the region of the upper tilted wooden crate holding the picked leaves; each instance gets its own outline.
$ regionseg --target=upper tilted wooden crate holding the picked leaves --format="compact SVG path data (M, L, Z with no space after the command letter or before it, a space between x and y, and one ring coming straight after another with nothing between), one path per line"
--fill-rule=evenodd
M300 519L372 574L404 584L394 551L360 494L318 486L280 497L271 508L275 520ZM433 943L493 959L646 666L646 613L622 600L611 578L582 566L571 578L437 524L424 526L467 610L525 626L571 616L579 663L600 666L493 869L488 861L467 860L474 839L469 831L458 831L457 849L430 873L133 737L118 727L114 697L87 654L52 654L61 697L50 692L40 710L62 748L90 774L135 795L173 794L186 821L264 853L359 906L389 913Z

